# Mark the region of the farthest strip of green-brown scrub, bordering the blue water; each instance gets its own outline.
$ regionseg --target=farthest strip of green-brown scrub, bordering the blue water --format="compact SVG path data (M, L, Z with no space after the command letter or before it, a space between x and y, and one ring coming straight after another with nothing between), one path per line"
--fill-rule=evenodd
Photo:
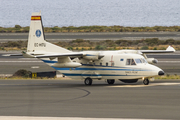
M154 26L154 27L123 27L123 26L80 26L80 27L44 27L45 32L179 32L180 26ZM0 27L1 33L28 33L29 26Z

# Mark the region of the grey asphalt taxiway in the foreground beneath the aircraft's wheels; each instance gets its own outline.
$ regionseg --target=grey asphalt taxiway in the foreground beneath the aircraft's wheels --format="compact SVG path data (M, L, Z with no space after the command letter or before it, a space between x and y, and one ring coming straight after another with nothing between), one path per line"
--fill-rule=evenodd
M0 80L0 116L179 120L179 91L179 80L149 86L142 81L85 86L68 79Z

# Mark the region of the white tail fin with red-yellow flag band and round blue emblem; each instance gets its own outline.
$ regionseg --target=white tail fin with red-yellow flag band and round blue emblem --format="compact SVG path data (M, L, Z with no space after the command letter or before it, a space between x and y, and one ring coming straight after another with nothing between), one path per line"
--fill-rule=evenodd
M32 13L29 30L27 52L33 53L68 53L71 52L62 47L46 42L42 25L41 13Z

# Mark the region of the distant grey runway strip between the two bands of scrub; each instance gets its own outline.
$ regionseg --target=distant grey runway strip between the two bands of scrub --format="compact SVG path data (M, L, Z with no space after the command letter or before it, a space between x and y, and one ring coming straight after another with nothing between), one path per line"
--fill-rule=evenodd
M0 42L26 41L29 33L0 33ZM160 40L180 40L179 32L97 32L97 33L45 33L45 39L50 42L84 39L100 40L141 40L159 38Z

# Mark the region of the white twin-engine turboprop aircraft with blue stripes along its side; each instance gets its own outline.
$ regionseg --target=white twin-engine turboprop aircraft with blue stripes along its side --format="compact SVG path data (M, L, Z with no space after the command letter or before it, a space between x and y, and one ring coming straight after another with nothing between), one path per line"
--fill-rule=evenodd
M93 80L115 80L134 83L139 79L145 85L154 76L164 75L164 71L152 64L154 58L147 58L145 53L171 53L173 47L166 50L117 50L117 51L82 51L72 52L44 40L41 13L32 13L27 52L24 57L39 58L65 76L83 79L85 85Z

